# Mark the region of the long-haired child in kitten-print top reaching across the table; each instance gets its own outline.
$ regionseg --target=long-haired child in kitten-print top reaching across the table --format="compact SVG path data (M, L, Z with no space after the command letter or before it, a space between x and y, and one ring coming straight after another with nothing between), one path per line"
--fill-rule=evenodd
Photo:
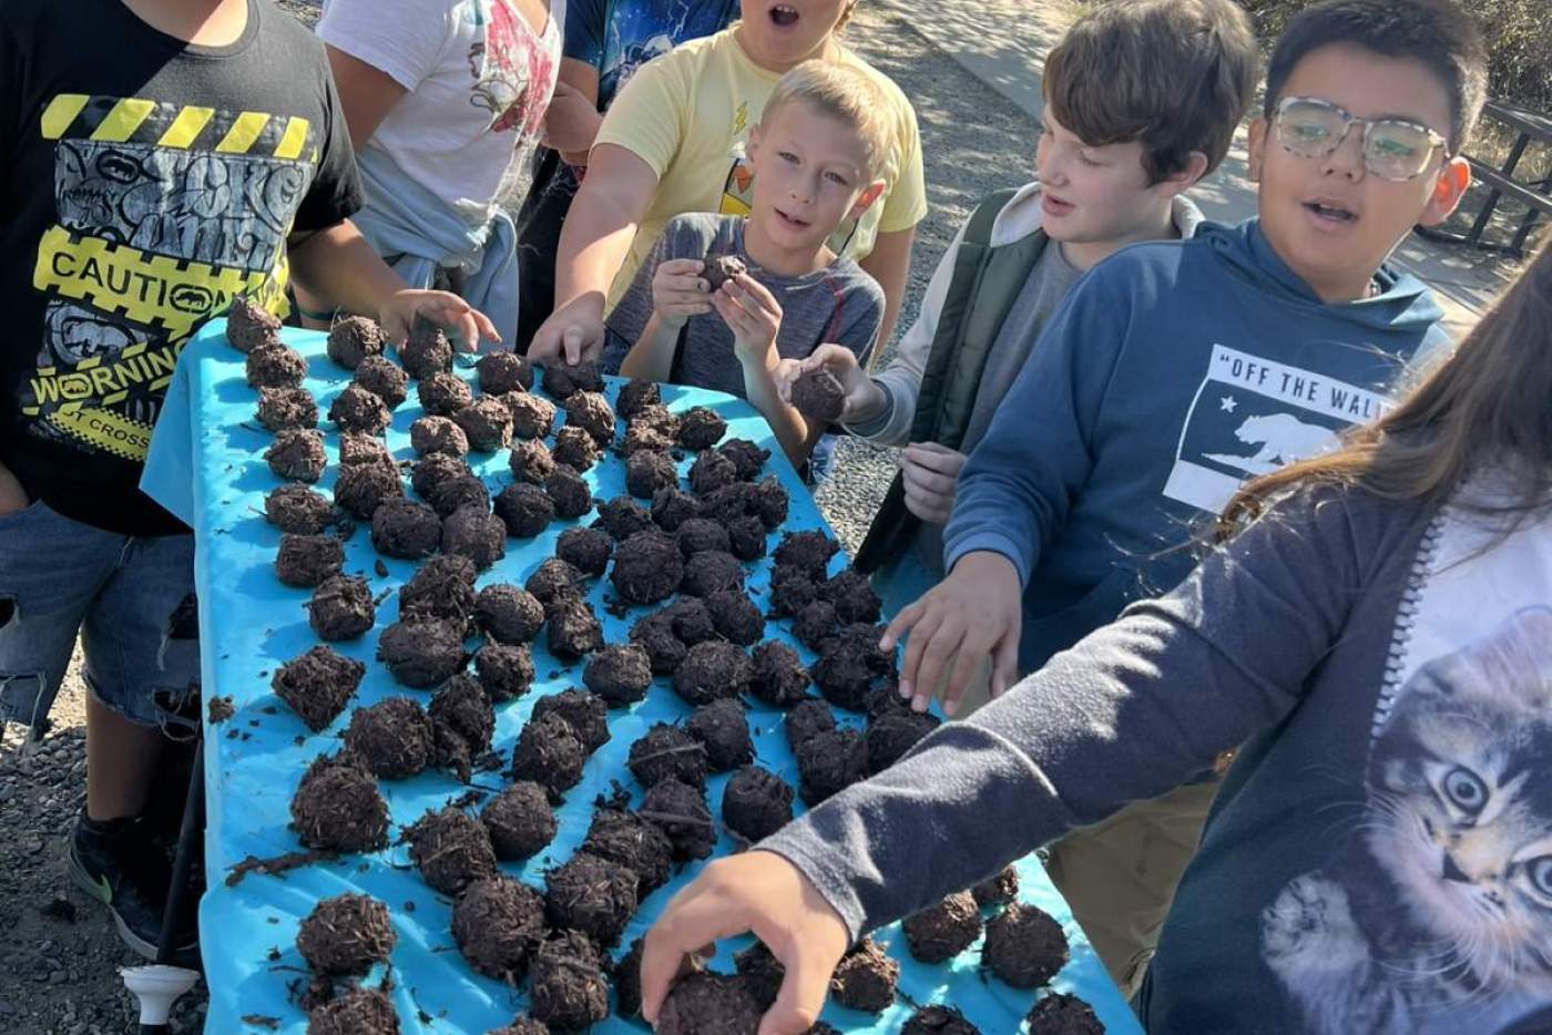
M1547 1030L1549 355L1552 247L1411 399L1245 489L1183 587L708 866L647 934L644 1015L748 929L785 965L760 1030L801 1032L852 937L1243 743L1148 1032Z

